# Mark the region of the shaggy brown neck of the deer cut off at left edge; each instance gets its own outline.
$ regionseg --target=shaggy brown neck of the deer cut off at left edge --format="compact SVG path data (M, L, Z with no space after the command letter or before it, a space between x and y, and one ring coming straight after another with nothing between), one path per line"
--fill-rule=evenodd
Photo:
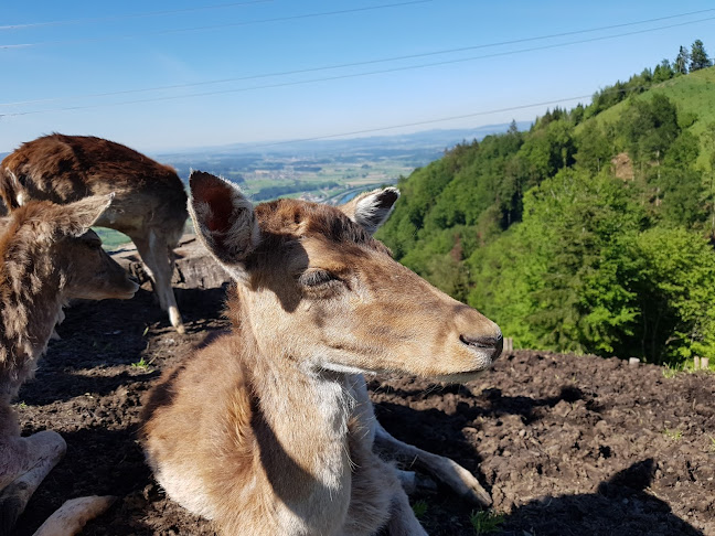
M0 396L13 397L34 375L62 320L65 278L52 262L0 261ZM23 270L24 269L24 270Z

